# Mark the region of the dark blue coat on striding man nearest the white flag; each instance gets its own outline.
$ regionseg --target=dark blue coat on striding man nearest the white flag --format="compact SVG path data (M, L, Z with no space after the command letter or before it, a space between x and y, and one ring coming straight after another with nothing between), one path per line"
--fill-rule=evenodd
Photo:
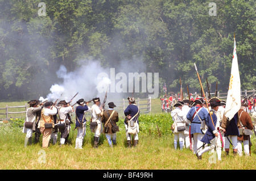
M212 120L213 120L214 126L212 124ZM208 119L205 123L207 125L208 129L207 129L207 132L204 134L203 138L200 140L201 142L204 142L206 144L210 144L210 140L212 140L215 137L214 134L213 134L213 131L215 130L216 123L217 123L216 114L213 112L212 119L210 119L210 115L208 113Z

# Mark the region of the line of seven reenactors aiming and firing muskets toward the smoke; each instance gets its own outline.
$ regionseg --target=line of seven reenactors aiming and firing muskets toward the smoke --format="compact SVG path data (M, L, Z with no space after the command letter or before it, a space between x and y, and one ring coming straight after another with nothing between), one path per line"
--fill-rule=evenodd
M134 146L138 144L139 133L139 108L135 104L135 99L128 97L129 106L127 106L124 114L126 119L124 125L126 128L127 145L129 148L132 146L132 137L134 137ZM35 144L39 142L40 135L42 134L42 147L47 148L49 146L50 139L52 138L53 145L57 142L57 135L60 133L60 146L67 144L69 133L71 132L71 120L70 114L75 112L77 137L75 149L82 149L82 144L86 134L86 118L85 112L91 113L90 130L94 132L94 148L98 148L98 142L101 133L105 133L109 146L113 148L113 145L117 144L117 135L119 127L117 122L119 121L118 112L114 110L115 104L113 102L108 103L108 110L104 109L104 104L101 104L100 98L92 99L93 106L89 107L89 102L85 102L84 99L77 100L77 106L73 107L65 100L61 100L59 103L45 102L40 103L39 100L31 100L28 102L30 107L26 112L26 119L23 125L23 133L26 133L24 146L32 144L32 133L35 133ZM75 130L74 129L74 130Z

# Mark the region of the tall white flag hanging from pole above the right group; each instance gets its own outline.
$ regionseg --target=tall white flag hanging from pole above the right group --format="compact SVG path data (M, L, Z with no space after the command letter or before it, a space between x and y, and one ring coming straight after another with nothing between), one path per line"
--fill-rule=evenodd
M234 115L241 108L241 82L237 62L237 49L236 49L236 39L234 39L234 51L231 75L229 81L229 91L226 98L225 116L231 120Z

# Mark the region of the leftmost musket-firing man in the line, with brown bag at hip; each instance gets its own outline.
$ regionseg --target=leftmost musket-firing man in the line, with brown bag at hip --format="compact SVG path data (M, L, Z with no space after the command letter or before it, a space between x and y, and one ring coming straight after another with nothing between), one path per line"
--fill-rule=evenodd
M27 144L32 144L32 133L36 129L36 117L37 112L41 111L41 107L38 106L39 101L38 100L30 100L28 102L30 104L30 107L26 111L26 119L23 125L23 133L27 133L25 137L25 143L24 146L27 147Z

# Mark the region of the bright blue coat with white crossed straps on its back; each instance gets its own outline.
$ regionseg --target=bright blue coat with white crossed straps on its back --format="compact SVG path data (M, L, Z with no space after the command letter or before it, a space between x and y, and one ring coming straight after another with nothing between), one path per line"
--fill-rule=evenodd
M195 106L195 107L192 107L188 113L187 113L187 119L191 121L194 113L196 112L197 108L199 108L200 106ZM197 111L198 112L198 111ZM201 108L201 111L194 116L193 120L192 120L192 123L191 123L191 132L190 134L193 134L193 133L201 133L201 134L204 134L202 131L201 131L201 121L207 121L207 115L208 115L208 112L205 108ZM200 119L199 117L200 116Z

